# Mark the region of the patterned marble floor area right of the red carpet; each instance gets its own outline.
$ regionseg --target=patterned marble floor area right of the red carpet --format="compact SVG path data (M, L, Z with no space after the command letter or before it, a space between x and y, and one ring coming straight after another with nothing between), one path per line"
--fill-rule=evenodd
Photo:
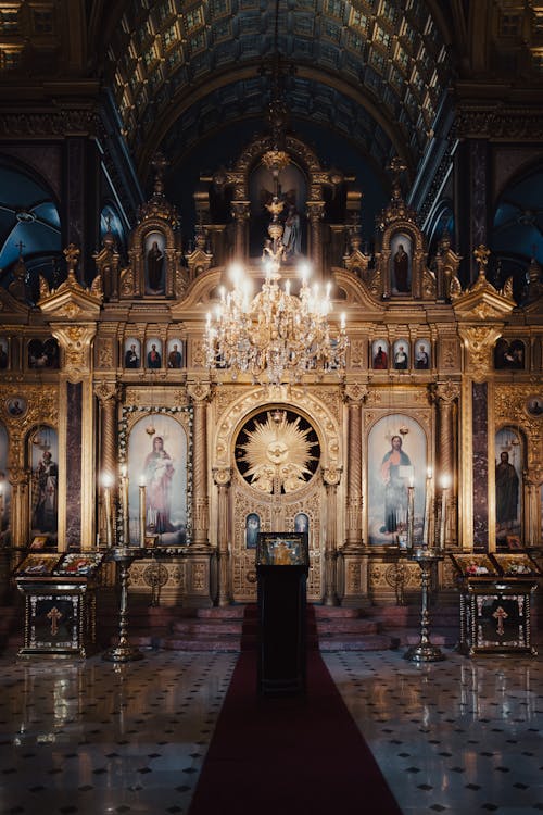
M443 653L325 655L402 812L543 812L542 657Z

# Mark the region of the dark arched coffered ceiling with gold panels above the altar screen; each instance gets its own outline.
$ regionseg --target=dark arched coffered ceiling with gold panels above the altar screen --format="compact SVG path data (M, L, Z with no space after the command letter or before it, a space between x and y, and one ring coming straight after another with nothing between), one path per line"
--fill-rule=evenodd
M117 3L105 76L144 174L161 146L173 164L233 118L262 118L276 3ZM451 25L431 0L280 0L277 50L292 70L294 118L348 135L379 166L400 154L414 173L450 87Z

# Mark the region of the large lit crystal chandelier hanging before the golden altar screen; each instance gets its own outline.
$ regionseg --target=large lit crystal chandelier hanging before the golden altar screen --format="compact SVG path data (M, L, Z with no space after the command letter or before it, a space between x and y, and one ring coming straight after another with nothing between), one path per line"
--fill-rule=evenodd
M251 281L240 266L231 269L233 289L223 289L214 315L207 314L204 337L207 367L226 368L230 377L249 374L253 383L280 385L299 383L304 374L320 376L328 372L342 375L349 339L345 317L333 327L330 288L310 287L308 266L301 269L299 294L290 292L290 280L280 285L280 263L285 248L282 225L276 210L268 227L270 239L263 253L265 279L261 290L251 297ZM280 211L280 210L279 210Z

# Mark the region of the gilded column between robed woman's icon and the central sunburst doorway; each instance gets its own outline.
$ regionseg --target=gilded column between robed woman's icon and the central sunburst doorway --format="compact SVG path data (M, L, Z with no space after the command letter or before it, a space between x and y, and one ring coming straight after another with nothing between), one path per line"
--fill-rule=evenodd
M194 409L192 442L192 546L209 548L207 490L207 383L191 383L188 392Z

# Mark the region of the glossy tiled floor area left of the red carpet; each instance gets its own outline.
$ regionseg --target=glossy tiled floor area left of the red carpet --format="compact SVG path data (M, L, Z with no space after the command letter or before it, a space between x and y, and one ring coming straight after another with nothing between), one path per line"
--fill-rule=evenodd
M0 660L0 813L186 813L235 654Z

